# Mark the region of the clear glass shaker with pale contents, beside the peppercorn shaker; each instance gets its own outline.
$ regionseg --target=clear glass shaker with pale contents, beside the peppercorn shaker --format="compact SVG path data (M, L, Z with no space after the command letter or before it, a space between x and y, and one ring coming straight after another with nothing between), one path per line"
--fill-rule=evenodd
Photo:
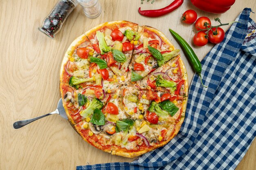
M97 18L101 14L101 4L98 0L77 0L77 2L88 18Z

